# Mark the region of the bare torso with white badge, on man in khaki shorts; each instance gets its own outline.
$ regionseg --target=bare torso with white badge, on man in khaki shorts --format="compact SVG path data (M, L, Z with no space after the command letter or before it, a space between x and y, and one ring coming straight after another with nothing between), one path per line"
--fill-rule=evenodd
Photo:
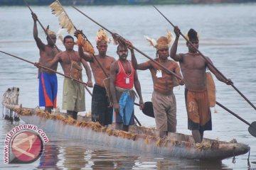
M156 61L159 62L158 59L156 59ZM150 72L151 72L151 77L154 83L154 91L157 91L160 94L165 94L165 95L172 94L174 86L178 85L178 81L176 77L174 77L171 74L167 74L164 69L159 67L157 64L154 64L154 62L152 61L149 61L149 62L151 63ZM160 64L164 65L164 67L169 69L171 72L174 72L180 75L180 69L178 67L178 64L173 60L165 60L164 62L163 61L160 62ZM156 74L159 76L156 76Z

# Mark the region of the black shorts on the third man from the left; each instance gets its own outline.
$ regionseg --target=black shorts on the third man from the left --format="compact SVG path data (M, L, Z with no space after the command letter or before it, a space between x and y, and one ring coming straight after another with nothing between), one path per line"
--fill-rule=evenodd
M109 106L106 89L95 84L92 91L92 121L101 125L112 124L113 107Z

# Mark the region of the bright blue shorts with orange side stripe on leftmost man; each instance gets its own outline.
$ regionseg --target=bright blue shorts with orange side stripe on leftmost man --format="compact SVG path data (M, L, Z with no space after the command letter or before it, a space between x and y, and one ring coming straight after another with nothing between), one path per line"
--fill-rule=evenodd
M55 73L39 73L39 106L56 108L58 81Z

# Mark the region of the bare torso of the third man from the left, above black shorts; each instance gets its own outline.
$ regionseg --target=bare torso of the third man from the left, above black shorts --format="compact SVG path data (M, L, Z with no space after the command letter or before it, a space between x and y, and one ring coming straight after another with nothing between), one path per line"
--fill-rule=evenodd
M95 57L97 57L97 60L100 62L101 66L107 73L107 77L110 77L110 66L115 61L114 57L110 57L107 55L105 57L99 57L98 55L95 55ZM102 68L99 66L95 59L90 62L90 67L92 69L92 74L95 79L95 84L103 87L103 80L107 77L102 71Z

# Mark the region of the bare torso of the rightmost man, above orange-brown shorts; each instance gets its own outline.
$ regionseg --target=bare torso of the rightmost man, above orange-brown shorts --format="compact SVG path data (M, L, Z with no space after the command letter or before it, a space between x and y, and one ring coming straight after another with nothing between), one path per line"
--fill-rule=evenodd
M206 61L198 53L186 53L181 55L181 72L189 91L206 90Z

